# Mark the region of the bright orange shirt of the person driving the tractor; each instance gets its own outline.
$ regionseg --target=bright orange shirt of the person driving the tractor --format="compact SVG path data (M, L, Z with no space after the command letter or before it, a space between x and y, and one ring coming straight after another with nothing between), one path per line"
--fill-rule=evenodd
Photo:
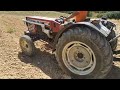
M88 11L78 11L79 14L77 16L75 16L75 21L76 22L81 22L84 21L87 17Z

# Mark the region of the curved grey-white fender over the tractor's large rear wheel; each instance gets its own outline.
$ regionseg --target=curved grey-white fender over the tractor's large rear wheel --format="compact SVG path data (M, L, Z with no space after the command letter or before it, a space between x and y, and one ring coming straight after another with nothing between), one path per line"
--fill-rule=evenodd
M62 36L62 34L64 32L68 31L70 28L81 27L81 26L86 26L88 28L92 28L91 30L95 30L95 31L101 33L105 37L107 37L109 35L109 33L110 33L110 30L107 29L105 26L103 26L101 23L100 23L100 26L101 26L100 28L96 27L94 24L92 24L90 22L72 23L72 24L67 25L62 30L59 30L59 32L55 36L54 42L52 44L53 50L55 50L56 44L57 44L59 38Z

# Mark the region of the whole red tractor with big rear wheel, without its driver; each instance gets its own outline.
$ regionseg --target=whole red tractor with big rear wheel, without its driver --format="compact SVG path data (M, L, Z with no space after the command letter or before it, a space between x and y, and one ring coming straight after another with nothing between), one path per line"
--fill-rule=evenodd
M28 30L20 38L22 52L36 54L34 42L49 41L61 69L72 78L104 78L112 67L113 51L117 47L114 28L106 18L83 22L64 22L64 17L28 16Z

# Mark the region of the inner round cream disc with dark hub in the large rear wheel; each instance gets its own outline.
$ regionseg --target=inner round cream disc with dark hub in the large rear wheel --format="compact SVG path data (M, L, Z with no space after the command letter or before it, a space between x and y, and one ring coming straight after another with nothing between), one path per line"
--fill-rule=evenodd
M86 68L91 61L89 51L78 44L75 44L68 49L67 57L70 65L79 70Z

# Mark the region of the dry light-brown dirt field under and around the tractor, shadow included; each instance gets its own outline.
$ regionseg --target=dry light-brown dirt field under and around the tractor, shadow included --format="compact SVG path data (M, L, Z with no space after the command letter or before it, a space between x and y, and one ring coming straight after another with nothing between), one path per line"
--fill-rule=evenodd
M0 12L0 78L1 79L66 79L51 50L44 42L36 42L38 53L35 57L21 54L19 38L26 29L24 15ZM113 20L120 29L120 21ZM117 33L120 31L116 31ZM120 42L118 43L118 50ZM106 79L120 78L120 54L114 55L114 64Z

